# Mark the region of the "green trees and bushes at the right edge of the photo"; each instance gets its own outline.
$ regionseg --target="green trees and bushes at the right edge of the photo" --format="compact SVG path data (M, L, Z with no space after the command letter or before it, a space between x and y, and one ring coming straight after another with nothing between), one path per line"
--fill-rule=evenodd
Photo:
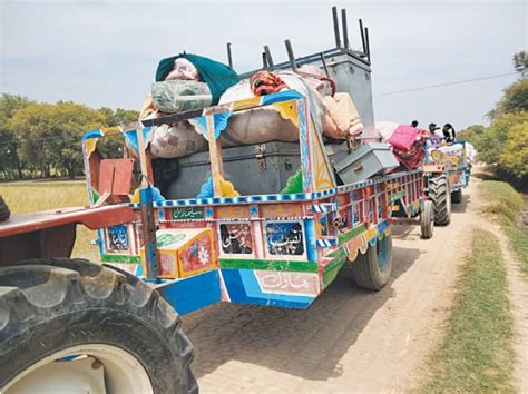
M489 127L473 125L458 137L473 144L477 159L492 165L498 178L528 189L528 53L514 56L519 79L503 90L487 117Z

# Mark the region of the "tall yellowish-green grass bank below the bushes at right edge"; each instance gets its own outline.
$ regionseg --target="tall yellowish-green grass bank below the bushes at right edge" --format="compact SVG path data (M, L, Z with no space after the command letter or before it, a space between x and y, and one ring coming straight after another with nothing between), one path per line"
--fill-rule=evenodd
M528 278L528 228L518 220L522 197L503 181L483 181L480 190L488 201L485 211L492 214L505 229L521 270Z

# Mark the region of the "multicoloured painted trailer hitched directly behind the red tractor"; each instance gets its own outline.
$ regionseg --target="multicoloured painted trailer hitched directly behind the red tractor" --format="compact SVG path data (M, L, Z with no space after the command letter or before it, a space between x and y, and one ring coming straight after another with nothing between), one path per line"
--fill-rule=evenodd
M228 149L222 149L219 137L227 124L225 119L236 111L263 106L274 106L299 128L300 168L293 169L285 185L281 185L282 190L275 194L239 195L237 185L246 180L237 178L236 171L226 180L222 157ZM183 121L196 115L178 114L155 124ZM156 288L179 314L221 301L304 308L332 283L346 262L353 262L360 286L380 289L387 284L392 264L392 217L414 217L427 205L421 169L340 185L321 135L310 120L306 98L292 90L209 107L199 115L201 122L206 125L211 159L211 176L199 188L203 197L164 199L154 179L149 179L153 186L146 190L154 199L158 196L151 207L157 238L153 245L157 246L158 259L149 262L143 220L136 220L99 230L102 262L139 277L155 278ZM153 127L85 135L86 170L94 204L111 189L108 180L113 174L119 174L121 183L129 179L125 190L134 183L130 159L101 159L94 154L97 140L121 134L128 138L127 145L134 146L136 136L148 140ZM138 142L138 149L141 144ZM374 155L391 154L380 150ZM153 160L143 157L143 176L148 179ZM260 166L262 159L265 156L253 158L253 166ZM96 168L105 173L95 177ZM262 176L261 183L265 181ZM111 196L117 197L115 193ZM135 194L141 195L139 190ZM149 199L131 205L138 216ZM432 220L422 216L426 232L430 232ZM430 237L428 234L424 237Z

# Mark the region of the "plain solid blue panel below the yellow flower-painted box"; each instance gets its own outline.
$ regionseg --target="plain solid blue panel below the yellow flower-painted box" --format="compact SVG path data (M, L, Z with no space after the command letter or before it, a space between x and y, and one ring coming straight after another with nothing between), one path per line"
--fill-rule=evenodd
M156 287L180 315L198 311L221 301L217 269L184 279L167 280Z

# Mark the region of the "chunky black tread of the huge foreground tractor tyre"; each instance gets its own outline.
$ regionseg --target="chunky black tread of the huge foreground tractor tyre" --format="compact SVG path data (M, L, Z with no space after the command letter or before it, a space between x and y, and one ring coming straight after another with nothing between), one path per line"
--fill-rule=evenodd
M60 299L60 303L47 305L32 294L38 288L40 294L49 296L47 301ZM60 292L60 297L50 295L50 292ZM178 392L197 392L189 368L194 358L193 346L180 328L176 312L156 290L136 277L85 259L27 260L0 268L0 356L8 352L3 346L9 346L9 339L21 332L28 332L50 317L87 307L124 308L141 318L150 316L151 324L166 338L166 347L178 364L178 373L174 374L178 375L174 377L180 388ZM19 373L16 364L16 361L11 362L12 367L0 373L0 387Z

